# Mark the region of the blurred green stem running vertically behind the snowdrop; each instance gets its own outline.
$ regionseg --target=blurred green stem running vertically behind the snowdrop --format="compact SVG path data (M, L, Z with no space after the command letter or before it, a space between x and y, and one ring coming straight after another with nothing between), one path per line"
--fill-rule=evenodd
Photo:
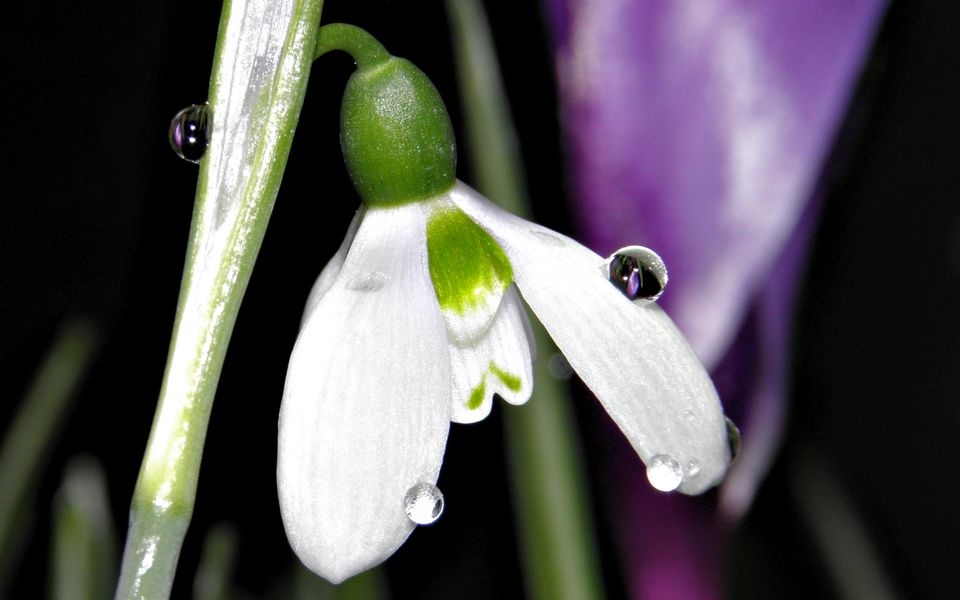
M477 188L529 215L519 145L486 16L476 0L448 0ZM527 592L540 599L604 596L570 396L549 372L552 340L534 324L538 358L528 405L505 416L507 454Z

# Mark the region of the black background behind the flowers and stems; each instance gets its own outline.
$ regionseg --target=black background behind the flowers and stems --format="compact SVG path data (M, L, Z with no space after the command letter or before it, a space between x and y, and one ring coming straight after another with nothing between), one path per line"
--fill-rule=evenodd
M420 66L459 129L442 3L358 4L330 1L324 21L365 27ZM539 220L575 234L537 7L487 4ZM821 181L826 203L797 323L786 450L736 537L731 596L833 595L788 486L794 448L810 444L851 493L904 595L949 597L954 587L960 43L956 11L947 14L946 5L893 3ZM10 597L46 589L50 498L71 456L92 454L103 464L124 528L196 184L196 167L173 154L166 130L177 110L205 98L219 11L215 1L13 3L0 19L0 423L66 317L88 315L103 331L40 478L32 541ZM239 533L239 587L269 595L293 564L276 501L273 424L303 302L358 202L337 140L351 68L345 56L314 66L224 367L177 597L189 594L202 534L216 522ZM465 168L460 174L469 180ZM604 417L592 401L577 406L588 470L604 471L590 467L603 457L589 435L599 429L590 423ZM391 559L395 597L521 593L500 425L497 407L481 425L453 426L440 487L462 508L418 531ZM601 551L610 593L621 595L602 531Z

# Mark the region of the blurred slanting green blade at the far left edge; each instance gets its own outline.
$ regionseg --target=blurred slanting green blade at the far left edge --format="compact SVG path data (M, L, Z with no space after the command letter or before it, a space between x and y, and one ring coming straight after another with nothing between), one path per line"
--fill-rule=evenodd
M99 332L90 322L64 324L6 432L0 448L0 596L12 561L22 554L18 534L33 514L26 510L32 506L31 489L98 341Z

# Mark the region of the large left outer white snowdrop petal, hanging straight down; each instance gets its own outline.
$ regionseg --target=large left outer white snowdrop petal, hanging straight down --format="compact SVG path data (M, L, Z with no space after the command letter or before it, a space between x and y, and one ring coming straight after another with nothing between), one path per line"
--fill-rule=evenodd
M392 554L404 497L436 483L450 426L423 208L370 209L287 371L277 480L290 544L333 582Z

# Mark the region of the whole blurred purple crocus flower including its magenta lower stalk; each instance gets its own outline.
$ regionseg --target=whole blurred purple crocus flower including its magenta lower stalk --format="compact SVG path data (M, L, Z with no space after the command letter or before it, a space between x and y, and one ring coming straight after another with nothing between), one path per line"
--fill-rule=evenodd
M744 443L721 490L728 517L747 510L779 444L814 188L884 5L548 3L586 239L642 235L670 256L678 280L664 301L705 364L721 365L722 392L730 382ZM661 507L700 519L680 543L664 512L623 504L638 596L682 596L677 582L703 579L696 550L712 516Z

